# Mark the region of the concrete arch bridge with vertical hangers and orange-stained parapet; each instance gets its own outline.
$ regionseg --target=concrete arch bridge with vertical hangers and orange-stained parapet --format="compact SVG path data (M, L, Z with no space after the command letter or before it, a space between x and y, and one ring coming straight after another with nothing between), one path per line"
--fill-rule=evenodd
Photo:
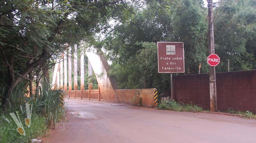
M69 46L68 50L57 60L52 78L52 84L54 85L52 88L63 89L71 99L98 100L113 103L129 104L130 99L138 96L142 98L142 106L155 107L157 104L157 90L155 88L118 89L115 79L108 75L110 67L104 55L98 54L97 50L93 47L90 47L90 51L86 51L80 47L80 51L81 54L78 55L78 46ZM91 82L88 83L88 90L85 90L85 54L88 58L88 77L91 77L94 72L98 82L97 90L92 89ZM80 69L78 68L78 58L80 58ZM78 69L81 77L80 90L78 89ZM73 75L72 72L74 73Z

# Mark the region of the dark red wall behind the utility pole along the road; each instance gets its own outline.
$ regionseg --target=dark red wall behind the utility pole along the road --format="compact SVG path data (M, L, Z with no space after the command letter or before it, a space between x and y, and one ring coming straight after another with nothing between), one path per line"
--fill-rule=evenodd
M210 109L209 74L174 76L173 80L176 101ZM218 110L256 113L256 70L216 73L216 86Z

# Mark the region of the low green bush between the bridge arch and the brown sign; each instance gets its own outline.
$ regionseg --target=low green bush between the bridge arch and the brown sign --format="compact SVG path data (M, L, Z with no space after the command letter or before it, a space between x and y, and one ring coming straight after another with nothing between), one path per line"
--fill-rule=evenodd
M158 88L164 91L170 86L169 74L157 71L157 46L153 42L136 43L143 49L124 64L113 62L110 76L115 77L119 88Z

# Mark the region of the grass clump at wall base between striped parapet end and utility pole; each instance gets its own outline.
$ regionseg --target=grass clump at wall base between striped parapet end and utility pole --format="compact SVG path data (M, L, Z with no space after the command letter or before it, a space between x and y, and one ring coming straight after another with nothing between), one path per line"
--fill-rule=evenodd
M172 110L172 111L186 111L186 112L200 112L202 107L198 105L184 104L182 102L176 102L175 100L164 100L157 104L157 109L160 110Z

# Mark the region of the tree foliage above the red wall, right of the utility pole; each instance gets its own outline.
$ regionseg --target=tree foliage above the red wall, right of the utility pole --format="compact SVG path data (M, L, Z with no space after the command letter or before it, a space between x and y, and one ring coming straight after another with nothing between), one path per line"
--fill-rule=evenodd
M215 47L221 59L217 71L255 69L255 0L219 1L215 9Z

